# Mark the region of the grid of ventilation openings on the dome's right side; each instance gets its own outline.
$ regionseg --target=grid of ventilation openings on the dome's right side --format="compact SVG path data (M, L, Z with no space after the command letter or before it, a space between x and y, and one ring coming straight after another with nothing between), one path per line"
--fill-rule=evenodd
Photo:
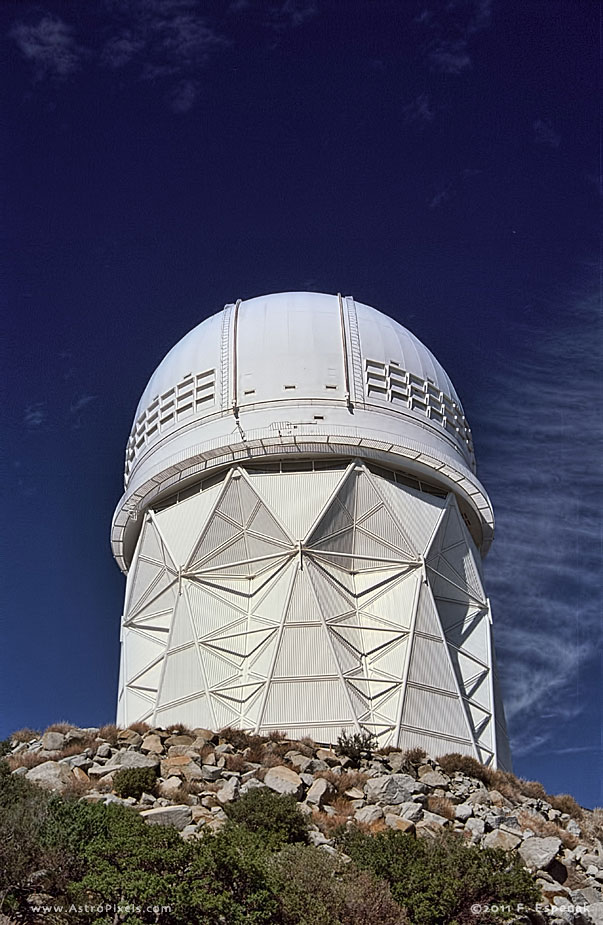
M473 453L471 429L458 402L429 379L409 373L393 361L366 360L366 392L369 401L381 399L394 406L420 411L439 424Z

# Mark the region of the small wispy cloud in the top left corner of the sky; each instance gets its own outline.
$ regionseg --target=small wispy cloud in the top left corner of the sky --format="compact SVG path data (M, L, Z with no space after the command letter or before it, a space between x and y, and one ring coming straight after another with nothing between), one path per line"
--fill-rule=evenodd
M17 22L9 35L33 65L37 80L69 77L85 54L72 27L56 16L44 15L34 24Z

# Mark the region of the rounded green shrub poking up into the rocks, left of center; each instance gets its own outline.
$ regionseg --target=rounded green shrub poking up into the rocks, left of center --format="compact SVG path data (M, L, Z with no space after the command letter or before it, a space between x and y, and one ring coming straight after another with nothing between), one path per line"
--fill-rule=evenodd
M224 810L232 823L261 836L272 850L308 841L308 821L294 797L282 796L267 787L250 790L235 803L227 803Z

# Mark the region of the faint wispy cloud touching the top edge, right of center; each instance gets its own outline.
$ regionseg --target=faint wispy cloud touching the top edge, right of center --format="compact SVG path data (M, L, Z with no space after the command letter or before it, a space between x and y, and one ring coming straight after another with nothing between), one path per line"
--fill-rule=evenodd
M461 74L472 66L471 41L492 19L491 0L450 0L425 8L415 24L426 34L426 60L440 74Z

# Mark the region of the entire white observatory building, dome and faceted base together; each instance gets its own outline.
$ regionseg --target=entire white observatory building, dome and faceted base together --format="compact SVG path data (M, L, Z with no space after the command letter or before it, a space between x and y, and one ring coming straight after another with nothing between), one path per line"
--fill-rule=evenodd
M452 383L351 297L228 304L140 400L113 521L117 719L511 758Z

